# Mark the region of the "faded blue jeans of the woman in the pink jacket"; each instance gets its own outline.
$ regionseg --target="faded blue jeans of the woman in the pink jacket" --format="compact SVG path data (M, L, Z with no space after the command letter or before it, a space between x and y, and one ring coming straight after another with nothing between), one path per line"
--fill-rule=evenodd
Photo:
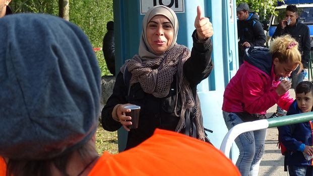
M235 113L223 111L223 117L228 130L237 124L243 123ZM265 137L266 129L262 129L242 133L235 139L239 149L236 166L242 176L258 175L260 162L265 150Z

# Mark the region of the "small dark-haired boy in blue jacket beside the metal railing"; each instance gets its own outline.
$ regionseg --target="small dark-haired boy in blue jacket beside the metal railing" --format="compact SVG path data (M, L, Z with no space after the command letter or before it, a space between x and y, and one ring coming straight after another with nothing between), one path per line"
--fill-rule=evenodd
M295 90L296 100L291 104L287 115L311 112L313 106L313 83L300 82ZM278 127L279 141L287 148L287 165L290 176L313 175L312 121Z

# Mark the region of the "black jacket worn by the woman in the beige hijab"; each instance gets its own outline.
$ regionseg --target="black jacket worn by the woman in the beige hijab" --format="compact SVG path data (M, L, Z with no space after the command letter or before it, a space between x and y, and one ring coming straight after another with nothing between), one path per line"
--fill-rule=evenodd
M211 60L212 41L197 42L193 34L193 49L191 57L183 65L185 78L190 82L194 97L197 95L197 85L211 73L213 63ZM116 76L113 93L102 109L102 126L105 130L115 131L121 127L119 122L112 119L112 110L117 104L131 103L141 107L139 127L131 129L128 133L126 149L132 148L149 138L156 128L175 131L179 117L175 116L174 107L176 102L176 75L174 75L171 89L165 98L156 98L145 93L140 83L131 87L128 96L127 85L124 83L121 72ZM178 94L178 98L180 95ZM178 101L177 113L180 113L180 101ZM183 130L184 131L184 130ZM182 131L182 132L183 132Z

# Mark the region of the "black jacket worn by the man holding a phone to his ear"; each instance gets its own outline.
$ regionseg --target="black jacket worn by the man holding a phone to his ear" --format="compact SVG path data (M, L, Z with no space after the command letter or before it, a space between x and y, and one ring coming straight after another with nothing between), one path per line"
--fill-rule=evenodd
M294 26L286 26L284 29L278 24L272 39L284 34L290 34L299 43L299 51L301 53L301 62L305 68L308 68L308 61L310 59L310 31L308 27L300 22L297 22Z

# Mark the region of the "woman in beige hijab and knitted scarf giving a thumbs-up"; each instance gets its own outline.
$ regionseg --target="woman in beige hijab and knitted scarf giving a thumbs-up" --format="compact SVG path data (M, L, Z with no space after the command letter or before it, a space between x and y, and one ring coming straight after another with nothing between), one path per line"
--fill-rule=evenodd
M197 85L210 74L213 35L198 6L193 49L176 43L178 21L165 6L151 8L143 19L139 54L116 76L113 93L102 110L102 126L129 131L126 149L149 138L156 128L205 140ZM128 105L140 106L139 127L129 129ZM187 130L185 130L187 129Z

